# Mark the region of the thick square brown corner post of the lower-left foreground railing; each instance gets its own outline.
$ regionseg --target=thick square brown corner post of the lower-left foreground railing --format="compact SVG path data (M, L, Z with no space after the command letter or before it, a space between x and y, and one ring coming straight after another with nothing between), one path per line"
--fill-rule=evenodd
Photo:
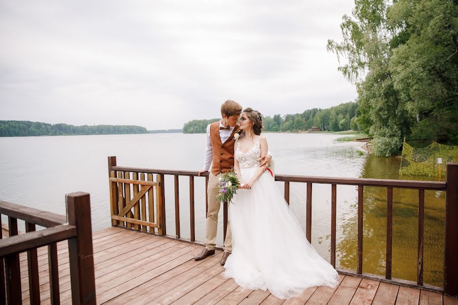
M68 223L76 236L68 240L73 304L96 304L91 202L88 193L66 195Z

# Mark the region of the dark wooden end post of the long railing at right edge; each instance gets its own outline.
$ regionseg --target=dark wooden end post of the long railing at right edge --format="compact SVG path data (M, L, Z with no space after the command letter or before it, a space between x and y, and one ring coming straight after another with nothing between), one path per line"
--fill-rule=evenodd
M447 164L445 182L444 293L458 296L458 163Z

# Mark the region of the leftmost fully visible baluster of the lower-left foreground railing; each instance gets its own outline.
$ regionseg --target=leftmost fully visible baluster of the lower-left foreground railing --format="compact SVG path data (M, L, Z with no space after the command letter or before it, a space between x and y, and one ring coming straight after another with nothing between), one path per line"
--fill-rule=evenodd
M8 216L8 227L10 237L18 234L16 218ZM5 257L5 272L8 304L22 304L19 254Z

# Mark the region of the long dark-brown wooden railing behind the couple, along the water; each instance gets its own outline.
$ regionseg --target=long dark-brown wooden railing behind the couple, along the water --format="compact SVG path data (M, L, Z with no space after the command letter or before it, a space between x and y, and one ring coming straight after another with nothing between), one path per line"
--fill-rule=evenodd
M133 168L121 167L116 165L116 157L108 157L108 170L112 175L113 171L126 173L156 174L157 181L160 181L160 212L157 218L161 221L160 235L166 235L165 228L165 196L164 196L164 175L173 175L175 184L175 238L181 238L180 234L180 199L179 199L179 176L188 176L190 184L189 204L190 204L190 240L191 242L202 243L195 241L194 229L194 177L198 176L196 171L180 171L180 170L163 170L150 168ZM205 186L208 186L208 173L202 175L205 178ZM390 179L366 179L366 178L340 178L340 177L315 177L315 176L297 176L297 175L275 175L276 181L284 182L284 198L290 202L290 182L302 182L306 184L306 238L311 241L312 230L312 189L313 184L329 184L331 185L331 261L335 267L336 258L336 198L337 185L350 185L358 187L358 217L357 217L357 269L355 271L337 269L340 273L359 276L368 279L374 279L389 283L396 283L404 286L424 288L433 291L443 291L447 295L458 296L458 164L447 164L447 176L445 182L436 181L414 181L414 180L390 180ZM116 187L116 186L115 186ZM364 187L381 187L386 188L386 267L385 277L371 275L362 271L363 262L363 194ZM417 249L417 281L411 282L403 279L391 278L391 260L392 260L392 226L393 226L393 189L416 189L418 190L418 249ZM444 285L436 287L423 284L423 237L424 237L424 191L438 190L446 192L445 202L445 240L444 240ZM119 189L115 192L120 192ZM205 192L207 194L207 192ZM206 195L206 207L208 198ZM158 209L159 212L159 209ZM206 208L207 212L207 208ZM113 212L112 212L113 215ZM223 238L226 235L227 224L227 204L223 205ZM112 224L117 225L117 224ZM119 225L119 224L118 224ZM171 236L170 236L171 237Z

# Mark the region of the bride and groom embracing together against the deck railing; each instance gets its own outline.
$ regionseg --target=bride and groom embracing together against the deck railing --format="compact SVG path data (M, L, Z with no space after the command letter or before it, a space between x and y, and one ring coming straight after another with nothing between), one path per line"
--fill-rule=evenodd
M215 253L220 202L218 178L232 168L241 189L229 204L223 275L246 289L269 289L278 298L299 295L312 286L335 287L338 274L313 249L269 171L268 151L260 112L232 100L221 105L221 120L207 127L204 170L208 181L205 249L195 260ZM240 125L237 124L240 118ZM236 133L243 131L240 137ZM232 253L232 254L231 254Z

